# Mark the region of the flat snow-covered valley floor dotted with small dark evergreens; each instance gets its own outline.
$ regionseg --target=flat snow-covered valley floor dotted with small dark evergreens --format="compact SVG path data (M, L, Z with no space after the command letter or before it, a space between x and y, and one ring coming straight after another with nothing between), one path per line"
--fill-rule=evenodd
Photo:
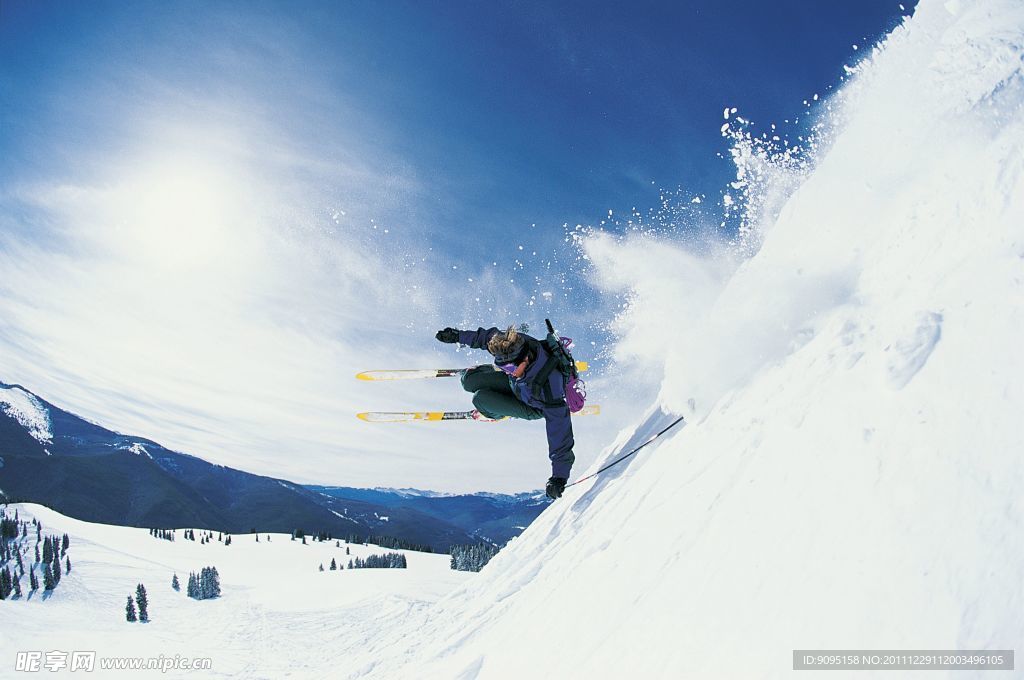
M7 506L9 515L38 518L43 535L67 533L71 573L51 595L0 603L0 664L13 669L19 650L94 650L98 656L210 657L212 671L161 673L120 671L112 677L326 678L337 661L331 654L359 648L376 627L395 625L475 575L452 571L447 555L392 551L341 541L291 541L289 535L233 535L231 545L216 540L186 541L182 529L173 542L145 528L83 522L33 504ZM35 545L30 530L29 545ZM345 548L351 555L345 555ZM334 557L347 567L356 556L400 552L406 569L331 571ZM26 565L33 559L32 549ZM324 564L325 571L318 570ZM193 600L185 595L189 571L216 566L221 597ZM177 573L181 591L171 588ZM125 599L145 585L148 624L125 621ZM23 591L28 595L28 575ZM331 652L330 654L328 652ZM77 677L81 672L47 677ZM93 677L101 677L97 669Z

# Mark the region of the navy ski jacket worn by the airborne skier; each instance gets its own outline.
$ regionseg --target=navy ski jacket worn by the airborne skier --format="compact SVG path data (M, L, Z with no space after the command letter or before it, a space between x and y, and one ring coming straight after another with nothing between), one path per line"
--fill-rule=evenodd
M486 349L487 341L496 333L500 333L497 328L482 329L475 331L459 331L459 342L469 345L474 349ZM512 393L523 403L537 409L543 416L548 430L548 458L551 459L551 476L568 479L569 470L575 456L572 454L572 447L575 441L572 439L572 419L569 415L569 408L565 403L565 378L560 371L552 371L548 376L548 386L551 388L552 399L547 399L542 385L537 385L537 376L548 363L549 353L545 349L544 343L532 338L525 333L522 334L526 342L537 351L537 358L526 367L526 373L522 378L509 376L509 385Z

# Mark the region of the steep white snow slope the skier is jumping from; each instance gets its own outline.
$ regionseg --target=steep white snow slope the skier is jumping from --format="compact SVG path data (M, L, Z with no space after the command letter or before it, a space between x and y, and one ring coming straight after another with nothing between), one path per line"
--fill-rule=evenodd
M770 678L795 648L1024 639L1022 54L1019 0L923 2L699 315L685 290L636 301L684 320L662 403L687 426L570 490L361 675Z

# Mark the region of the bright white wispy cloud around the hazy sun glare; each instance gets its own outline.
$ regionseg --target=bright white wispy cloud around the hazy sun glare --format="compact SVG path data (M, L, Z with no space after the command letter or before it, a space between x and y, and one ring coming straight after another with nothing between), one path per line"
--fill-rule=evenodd
M480 458L494 432L453 444L451 431L372 430L353 417L467 403L457 385L369 391L352 378L454 358L431 337L447 274L408 266L426 249L394 226L419 190L413 169L319 113L260 115L163 82L146 92L156 98L101 103L120 111L126 142L66 147L74 162L48 180L2 187L5 380L266 474L462 490L543 481L543 447L527 483L495 474L511 452Z

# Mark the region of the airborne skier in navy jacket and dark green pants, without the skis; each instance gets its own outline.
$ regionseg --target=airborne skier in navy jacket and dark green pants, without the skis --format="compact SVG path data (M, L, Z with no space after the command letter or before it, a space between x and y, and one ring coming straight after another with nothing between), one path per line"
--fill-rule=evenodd
M486 349L494 366L478 366L462 376L462 386L473 393L474 417L544 419L548 430L551 478L549 498L561 498L575 456L572 419L565 402L565 378L544 343L509 327L460 331L446 328L435 336L441 342Z

